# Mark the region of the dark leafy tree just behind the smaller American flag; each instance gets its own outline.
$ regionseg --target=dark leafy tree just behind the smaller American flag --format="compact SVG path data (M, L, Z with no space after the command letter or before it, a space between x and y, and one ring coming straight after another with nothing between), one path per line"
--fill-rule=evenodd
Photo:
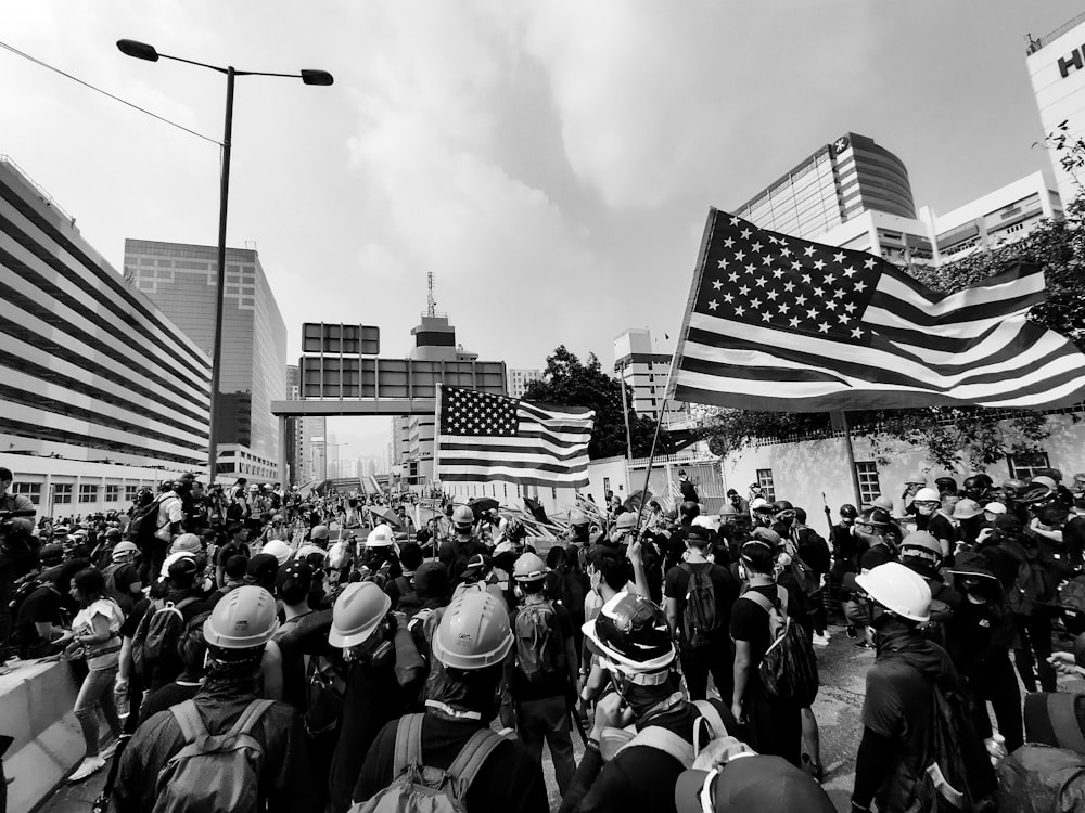
M622 416L623 386L603 372L595 353L588 353L585 363L564 345L560 345L547 357L544 378L528 384L524 398L540 403L595 410L596 423L588 444L588 456L598 460L626 453L625 421ZM626 403L633 454L635 457L647 456L652 448L655 422L633 411L630 387L626 387Z

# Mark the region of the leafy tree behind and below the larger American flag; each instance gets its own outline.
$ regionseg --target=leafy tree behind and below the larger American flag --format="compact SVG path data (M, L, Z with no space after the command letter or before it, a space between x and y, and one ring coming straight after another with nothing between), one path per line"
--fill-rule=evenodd
M1085 143L1080 154L1085 156ZM908 273L929 288L954 293L997 274L1016 262L1038 263L1047 282L1047 300L1029 319L1085 349L1085 197L1072 201L1063 217L1041 221L1017 243L978 253L939 268L912 266ZM942 468L958 464L983 469L1009 454L1033 451L1049 431L1043 413L988 410L981 406L932 406L919 410L847 413L854 435L888 437L923 447ZM1005 420L1005 425L999 421ZM1078 420L1076 414L1073 420ZM774 413L718 410L702 426L716 454L756 446L761 439L824 438L831 434L828 413ZM876 449L876 451L878 451ZM882 449L879 457L890 450Z

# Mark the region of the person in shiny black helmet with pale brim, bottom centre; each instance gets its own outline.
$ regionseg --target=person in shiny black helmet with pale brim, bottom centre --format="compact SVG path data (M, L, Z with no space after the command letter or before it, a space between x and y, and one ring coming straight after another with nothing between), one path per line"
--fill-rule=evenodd
M677 650L666 617L651 599L618 593L584 625L612 692L596 705L595 724L563 813L675 810L675 783L700 749L736 730L724 704L690 702L675 672ZM635 723L637 733L622 731Z

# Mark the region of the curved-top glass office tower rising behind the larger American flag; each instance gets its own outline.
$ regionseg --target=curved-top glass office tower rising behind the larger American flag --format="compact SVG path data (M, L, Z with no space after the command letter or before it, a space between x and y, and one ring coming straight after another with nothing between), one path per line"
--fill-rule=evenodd
M735 214L773 231L816 237L856 215L916 217L904 162L873 139L845 133L742 204Z

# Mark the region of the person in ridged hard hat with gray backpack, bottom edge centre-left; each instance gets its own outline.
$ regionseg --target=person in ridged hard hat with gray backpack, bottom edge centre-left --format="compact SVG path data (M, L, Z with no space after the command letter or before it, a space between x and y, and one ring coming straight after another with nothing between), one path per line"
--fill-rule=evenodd
M356 813L547 813L542 766L489 727L513 646L503 604L475 591L455 599L433 635L441 664L424 714L381 731L354 789Z

